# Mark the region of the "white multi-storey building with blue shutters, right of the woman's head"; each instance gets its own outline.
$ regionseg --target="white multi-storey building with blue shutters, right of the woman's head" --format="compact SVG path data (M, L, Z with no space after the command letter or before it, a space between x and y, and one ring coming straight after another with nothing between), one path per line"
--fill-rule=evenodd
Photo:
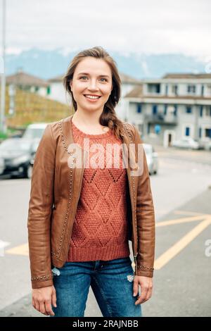
M142 80L124 96L124 119L148 142L171 146L174 139L211 140L211 74L174 74Z

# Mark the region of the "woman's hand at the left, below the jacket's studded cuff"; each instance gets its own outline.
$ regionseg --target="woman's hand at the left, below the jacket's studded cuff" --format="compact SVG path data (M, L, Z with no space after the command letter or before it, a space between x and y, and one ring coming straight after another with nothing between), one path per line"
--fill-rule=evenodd
M32 289L32 306L44 315L54 316L52 306L56 307L56 289L52 286Z

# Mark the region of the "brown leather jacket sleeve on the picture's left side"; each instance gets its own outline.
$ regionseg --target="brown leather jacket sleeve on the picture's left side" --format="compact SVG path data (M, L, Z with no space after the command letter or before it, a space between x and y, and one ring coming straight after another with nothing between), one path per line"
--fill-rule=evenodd
M53 285L51 211L56 146L48 124L34 158L27 218L32 288Z

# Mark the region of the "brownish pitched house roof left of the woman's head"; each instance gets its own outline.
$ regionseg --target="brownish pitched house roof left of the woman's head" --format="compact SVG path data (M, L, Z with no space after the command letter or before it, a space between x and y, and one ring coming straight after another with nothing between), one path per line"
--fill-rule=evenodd
M8 75L6 77L6 84L15 84L22 86L39 86L39 87L48 86L46 80L42 80L39 77L30 75L28 73L24 73L23 71L19 71L14 75Z

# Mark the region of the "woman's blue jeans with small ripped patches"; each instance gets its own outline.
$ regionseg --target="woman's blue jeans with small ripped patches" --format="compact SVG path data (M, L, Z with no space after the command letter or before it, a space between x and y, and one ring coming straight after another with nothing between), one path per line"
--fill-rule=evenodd
M111 261L66 262L53 268L56 289L55 316L84 317L89 286L94 292L103 317L141 317L141 305L133 296L134 270L130 257Z

